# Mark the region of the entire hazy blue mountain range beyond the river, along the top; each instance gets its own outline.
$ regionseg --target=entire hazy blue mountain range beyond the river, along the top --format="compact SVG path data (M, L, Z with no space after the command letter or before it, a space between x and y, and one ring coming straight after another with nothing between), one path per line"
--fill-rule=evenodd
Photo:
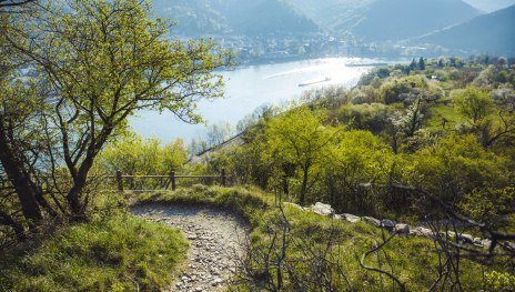
M511 1L511 0L507 0ZM515 1L515 0L514 0ZM183 36L307 36L355 43L426 43L463 53L513 54L515 17L467 0L153 0ZM483 17L486 16L486 17ZM280 37L281 38L281 37ZM323 34L319 34L321 42ZM462 42L462 43L460 43ZM431 48L435 48L434 46Z

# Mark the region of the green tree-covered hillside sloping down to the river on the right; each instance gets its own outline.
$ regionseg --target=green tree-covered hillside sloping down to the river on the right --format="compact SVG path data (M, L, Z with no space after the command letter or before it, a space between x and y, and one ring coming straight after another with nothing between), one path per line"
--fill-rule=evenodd
M413 202L402 192L360 188L394 181L476 220L494 220L515 202L514 85L515 69L505 59L381 68L350 91L311 91L303 105L249 117L246 143L210 165L264 189L284 178L292 200L326 202L337 212L423 215L410 211Z

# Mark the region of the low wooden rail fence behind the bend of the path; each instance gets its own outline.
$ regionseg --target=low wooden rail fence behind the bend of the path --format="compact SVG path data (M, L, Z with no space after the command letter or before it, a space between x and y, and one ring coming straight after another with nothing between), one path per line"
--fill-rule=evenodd
M169 175L125 175L121 171L117 171L117 184L118 191L123 192L123 179L160 179L166 180L164 184L161 187L163 189L169 189L170 185L174 191L176 189L176 180L178 179L219 179L222 185L228 185L228 175L225 174L225 170L222 169L221 174L219 175L176 175L175 171L170 172ZM156 190L128 190L128 191L138 191L138 192L145 192L145 191L156 191Z

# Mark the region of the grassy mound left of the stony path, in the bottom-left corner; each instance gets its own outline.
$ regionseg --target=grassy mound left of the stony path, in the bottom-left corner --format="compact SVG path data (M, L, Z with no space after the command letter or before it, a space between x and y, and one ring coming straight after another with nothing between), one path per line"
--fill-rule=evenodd
M160 291L185 258L183 235L130 213L63 226L2 254L3 291Z

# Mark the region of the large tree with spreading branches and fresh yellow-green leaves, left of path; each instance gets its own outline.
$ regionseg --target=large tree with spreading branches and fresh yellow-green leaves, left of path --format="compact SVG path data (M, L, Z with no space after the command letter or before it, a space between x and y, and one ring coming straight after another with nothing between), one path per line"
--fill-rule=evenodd
M71 0L65 7L47 3L36 18L19 17L21 29L3 30L10 50L31 64L49 88L44 112L30 115L31 121L41 118L34 129L44 141L44 151L34 151L44 157L38 157L40 162L33 167L47 174L64 167L71 184L63 190L61 210L72 218L85 217L84 188L93 161L124 131L128 117L152 109L194 123L201 120L194 111L196 102L223 93L222 79L212 71L226 64L228 54L211 41L166 39L169 24L149 17L150 11L149 2L137 0ZM16 153L0 158L2 165ZM21 172L29 168L23 161L13 164ZM7 174L13 185L19 183ZM33 190L41 189L34 175L26 175L24 181Z

